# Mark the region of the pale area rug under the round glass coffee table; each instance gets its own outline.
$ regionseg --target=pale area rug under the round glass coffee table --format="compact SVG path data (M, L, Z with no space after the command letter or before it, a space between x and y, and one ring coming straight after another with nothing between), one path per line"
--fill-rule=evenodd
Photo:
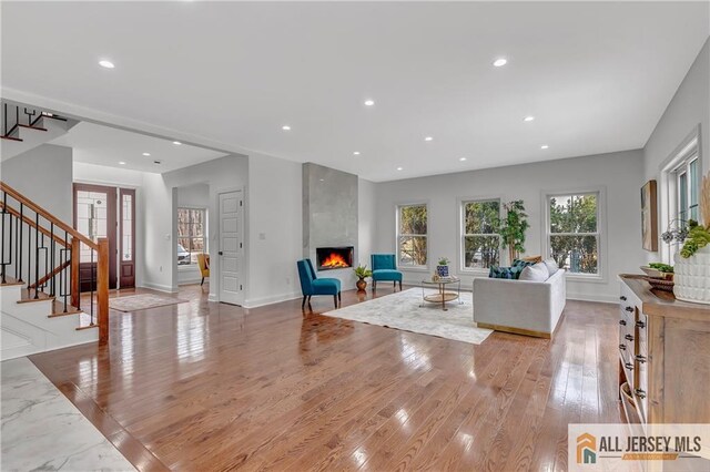
M449 301L444 311L439 304L424 302L420 288L410 288L323 315L479 345L493 331L476 327L471 299L469 291L462 291L464 304Z

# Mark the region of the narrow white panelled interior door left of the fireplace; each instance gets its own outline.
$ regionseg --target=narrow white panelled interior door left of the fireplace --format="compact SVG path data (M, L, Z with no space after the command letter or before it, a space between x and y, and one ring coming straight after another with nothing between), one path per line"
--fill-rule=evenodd
M242 192L220 194L220 301L241 305Z

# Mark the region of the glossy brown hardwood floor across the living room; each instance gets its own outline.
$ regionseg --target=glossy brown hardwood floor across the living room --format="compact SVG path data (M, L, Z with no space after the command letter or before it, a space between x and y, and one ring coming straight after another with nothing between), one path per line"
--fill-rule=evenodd
M474 346L320 316L328 297L180 297L112 310L108 349L31 357L140 470L566 470L568 423L620 421L613 305Z

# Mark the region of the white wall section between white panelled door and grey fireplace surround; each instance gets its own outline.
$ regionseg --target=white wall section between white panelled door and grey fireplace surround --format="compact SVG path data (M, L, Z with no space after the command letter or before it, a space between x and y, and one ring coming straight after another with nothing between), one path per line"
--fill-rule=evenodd
M300 163L250 155L247 307L301 297L296 269L303 253L301 184Z

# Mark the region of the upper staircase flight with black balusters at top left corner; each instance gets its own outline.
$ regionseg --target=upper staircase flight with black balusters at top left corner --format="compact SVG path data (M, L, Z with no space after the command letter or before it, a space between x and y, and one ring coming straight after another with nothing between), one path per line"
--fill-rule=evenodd
M7 161L65 134L77 120L62 117L31 106L2 102L0 154Z

